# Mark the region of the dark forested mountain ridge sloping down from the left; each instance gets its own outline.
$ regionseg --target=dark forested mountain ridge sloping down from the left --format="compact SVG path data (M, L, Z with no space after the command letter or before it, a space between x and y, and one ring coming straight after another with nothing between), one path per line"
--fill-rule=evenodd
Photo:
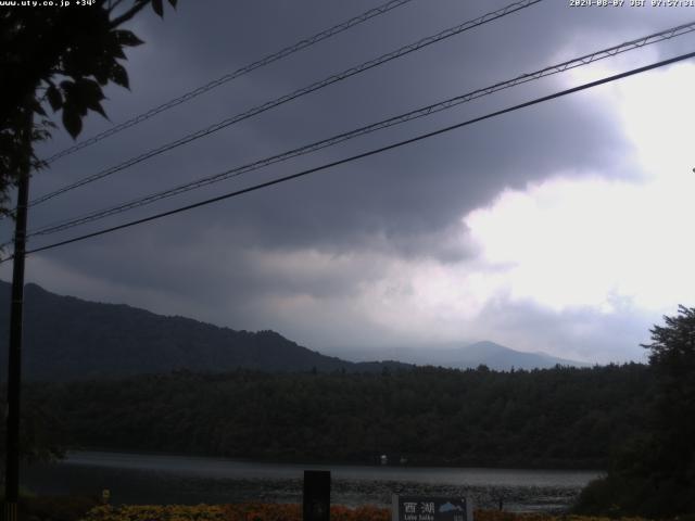
M0 281L0 379L7 378L10 288ZM23 374L30 380L75 380L130 374L226 371L408 368L397 361L355 364L318 352L274 331L235 331L127 305L61 296L25 287Z

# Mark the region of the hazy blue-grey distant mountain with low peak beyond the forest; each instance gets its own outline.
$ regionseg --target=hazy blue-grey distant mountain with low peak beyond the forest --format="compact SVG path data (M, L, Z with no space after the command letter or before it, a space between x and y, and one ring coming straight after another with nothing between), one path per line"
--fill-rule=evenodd
M515 369L547 369L561 366L589 367L577 360L557 358L546 353L525 353L505 347L494 342L476 342L464 347L455 347L453 345L442 346L422 346L422 347L403 347L391 350L372 350L372 351L345 351L343 355L348 359L361 359L365 356L370 358L388 357L404 363L417 365L431 365L450 367L454 369L477 368L480 365L488 366L490 369L498 371L508 371Z

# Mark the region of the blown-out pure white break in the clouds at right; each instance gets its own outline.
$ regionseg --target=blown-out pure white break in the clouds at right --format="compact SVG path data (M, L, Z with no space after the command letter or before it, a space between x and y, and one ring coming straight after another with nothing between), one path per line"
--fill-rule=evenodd
M695 66L682 64L591 94L620 118L640 181L558 174L465 218L484 263L504 272L497 291L556 313L692 305L694 82Z

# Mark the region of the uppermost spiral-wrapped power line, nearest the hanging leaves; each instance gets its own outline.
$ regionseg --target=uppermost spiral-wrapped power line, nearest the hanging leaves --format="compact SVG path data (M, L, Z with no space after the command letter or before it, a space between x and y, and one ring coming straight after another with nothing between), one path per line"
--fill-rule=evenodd
M146 119L150 119L151 117L164 111L168 111L169 109L180 105L181 103L186 103L187 101L190 101L193 98L199 97L200 94L203 94L210 90L213 90L224 84L231 81L232 79L236 79L240 76L243 76L244 74L255 71L256 68L263 67L265 65L269 65L273 62L287 58L290 54L301 51L302 49L306 49L307 47L318 43L319 41L326 40L331 36L336 36L339 33L342 33L343 30L348 30L356 25L362 24L363 22L374 18L375 16L378 16L380 14L383 14L391 10L400 8L401 5L404 5L410 1L412 0L390 0L377 8L370 9L369 11L365 11L364 13L357 16L354 16L346 22L343 22L342 24L334 25L326 30L321 30L320 33L317 33L314 36L304 38L292 46L286 47L285 49L281 49L273 54L268 54L267 56L262 58L261 60L257 60L249 65L238 68L233 73L226 74L213 81L210 81L203 85L202 87L198 87L197 89L186 92L185 94L181 94L178 98L174 98L173 100L169 100L166 103L162 103L161 105L155 106L154 109L150 109L148 112L139 114L138 116L135 116L128 119L127 122L124 122L108 130L104 130L103 132L98 134L89 139L86 139L85 141L80 141L79 143L74 144L73 147L68 147L67 149L51 155L48 160L45 160L45 161L48 164L53 163L60 160L61 157L64 157L66 155L77 152L78 150L90 147L103 139L106 139L113 136L114 134L118 134L122 130L125 130L126 128L130 128L135 125L138 125L144 122Z

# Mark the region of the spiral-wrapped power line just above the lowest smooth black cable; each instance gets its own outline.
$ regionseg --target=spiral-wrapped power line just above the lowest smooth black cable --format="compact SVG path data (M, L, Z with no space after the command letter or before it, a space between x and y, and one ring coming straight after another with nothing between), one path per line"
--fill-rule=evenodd
M568 60L565 61L563 63L556 64L556 65L549 65L546 66L540 71L535 71L533 73L528 73L528 74L522 74L521 76L517 76L513 79L508 79L506 81L500 81L497 84L494 84L490 87L485 87L482 89L477 89L473 90L471 92L465 93L465 94L460 94L457 96L455 98L451 98L447 99L445 101L441 101L439 103L434 103L431 105L427 105L425 107L420 107L410 112L407 112L405 114L401 114L394 117L390 117L388 119L383 119L380 120L378 123L374 123L371 125L367 125L348 132L343 132L333 137L330 137L328 139L324 139L311 144L306 144L303 147L300 147L298 149L293 149L290 150L288 152L283 152L281 154L276 154L273 155L270 157L265 157L263 160L258 160L255 161L253 163L249 163L247 165L242 165L242 166L238 166L228 170L225 170L223 173L218 173L215 174L213 176L207 176L201 179L198 179L195 181L191 181L191 182L187 182L185 185L179 185L177 187L174 188L169 188L167 190L164 191L160 191L160 192L155 192L155 193L151 193L149 195L142 196L142 198L138 198L135 200L131 200L129 202L126 203L122 203L118 204L116 206L112 206L105 209L100 209L100 211L96 211L96 212L90 212L86 215L79 216L79 217L75 217L72 219L67 219L67 220L63 220L60 221L58 224L53 224L53 225L47 225L42 228L36 229L36 230L30 230L27 237L35 237L35 236L47 236L47 234L52 234L52 233L56 233L59 231L64 231L66 229L70 228L74 228L76 226L79 225L84 225L87 223L92 223L94 220L98 219L102 219L112 215L116 215L116 214L121 214L123 212L126 212L128 209L132 209L136 207L140 207L140 206L144 206L147 204L151 204L154 203L156 201L160 201L162 199L167 199L180 193L185 193L207 185L212 185L215 182L219 182L226 179L229 179L231 177L237 177L240 176L242 174L245 174L248 171L252 171L252 170L256 170L266 166L269 166L271 164L276 164L276 163L280 163L283 161L288 161L292 157L296 157L300 155L304 155L311 152L315 152L317 150L327 148L327 147L331 147L333 144L338 144L340 142L343 141L348 141L350 139L356 138L358 136L364 136L377 130L381 130L384 128L389 128L395 125L400 125L402 123L405 122L409 122L409 120L414 120L420 117L425 117L428 116L430 114L434 114L444 110L448 110L452 109L458 104L462 103L466 103L468 101L478 99L478 98L482 98L483 96L489 96L492 94L494 92L497 92L500 90L504 90L504 89L508 89L511 87L515 87L517 85L521 85L521 84L526 84L528 81L532 81L532 80L536 80L546 76L551 76L551 75L555 75L555 74L559 74L561 72L571 69L571 68L576 68L576 67L580 67L580 66L584 66L584 65L589 65L590 63L599 61L599 60L604 60L606 58L610 58L610 56L615 56L619 53L622 52L627 52L630 50L634 50L634 49L641 49L644 46L648 46L648 45L653 45L659 41L664 41L670 38L673 38L675 36L681 36L681 35L685 35L688 33L692 33L695 30L695 22L691 22L688 24L683 24L677 27L671 27L669 29L666 30L661 30L659 33L655 33L648 36L644 36L642 38L637 38L634 40L630 40L623 43L620 43L618 46L614 46L610 47L608 49L604 49L601 51L595 51L592 52L590 54L585 54L583 56L580 58L576 58L572 60Z

